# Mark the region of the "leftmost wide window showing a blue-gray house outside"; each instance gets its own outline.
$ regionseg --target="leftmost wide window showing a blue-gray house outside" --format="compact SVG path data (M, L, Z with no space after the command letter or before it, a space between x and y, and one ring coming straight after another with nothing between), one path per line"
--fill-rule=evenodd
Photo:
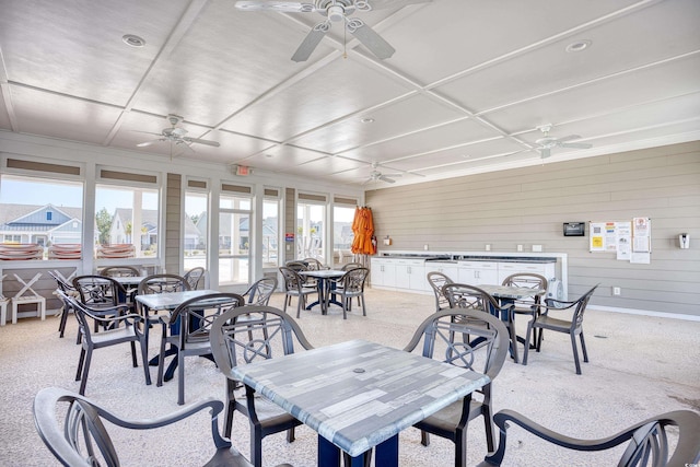
M0 238L3 243L36 244L48 259L52 245L82 244L83 184L52 178L2 175ZM70 259L75 259L73 255Z

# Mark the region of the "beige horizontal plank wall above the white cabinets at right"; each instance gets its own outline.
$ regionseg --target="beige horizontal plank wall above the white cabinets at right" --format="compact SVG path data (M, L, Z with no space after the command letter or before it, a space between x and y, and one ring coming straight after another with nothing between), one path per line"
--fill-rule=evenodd
M544 245L568 254L571 299L600 283L594 305L700 316L700 142L372 190L365 202L377 238L392 237L383 249ZM650 265L590 253L587 225L585 237L562 235L563 222L635 217L652 220Z

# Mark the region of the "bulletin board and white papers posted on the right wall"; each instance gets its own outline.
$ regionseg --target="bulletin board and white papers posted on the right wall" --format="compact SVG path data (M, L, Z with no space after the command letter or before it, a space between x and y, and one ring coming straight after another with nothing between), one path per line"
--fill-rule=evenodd
M634 218L632 221L591 222L590 250L609 252L621 261L650 264L652 253L652 221Z

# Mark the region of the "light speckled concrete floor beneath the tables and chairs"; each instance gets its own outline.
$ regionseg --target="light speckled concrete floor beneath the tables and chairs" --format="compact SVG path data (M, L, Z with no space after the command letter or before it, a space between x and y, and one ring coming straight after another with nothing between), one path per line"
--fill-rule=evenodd
M413 329L433 312L430 295L387 291L366 292L369 316L357 312L346 322L339 308L328 316L305 312L300 324L316 347L364 338L402 348ZM281 306L282 295L271 305ZM524 330L525 323L518 323ZM73 381L79 348L75 323L69 320L66 338L58 338L58 318L46 322L20 319L0 328L0 465L52 466L57 463L39 440L32 419L34 395L46 386L78 390ZM655 413L676 409L700 411L700 323L614 314L590 310L585 320L591 362L583 375L574 373L569 337L546 335L541 353L530 353L527 366L508 361L494 381L495 410L510 408L562 433L598 437ZM158 336L151 341L156 352ZM155 371L151 371L155 378ZM154 380L155 381L155 380ZM189 359L186 367L186 401L203 397L223 398L224 381L205 359ZM126 418L152 418L174 411L177 384L145 386L142 370L130 364L126 346L96 351L88 382L88 396ZM192 417L175 427L152 432L114 430L113 437L122 465L201 465L211 453L207 415ZM552 448L524 431L510 430L508 466L616 465L619 452L594 456ZM486 454L483 424L469 427L468 464ZM248 454L248 425L235 418L234 445ZM432 437L420 445L417 430L400 435L401 466L447 466L453 464L453 445ZM264 463L314 466L316 434L298 429L294 443L283 434L264 441Z

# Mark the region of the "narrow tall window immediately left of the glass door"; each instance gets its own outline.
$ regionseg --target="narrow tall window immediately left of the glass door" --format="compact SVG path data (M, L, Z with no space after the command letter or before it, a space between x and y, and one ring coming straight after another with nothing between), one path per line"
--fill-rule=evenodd
M209 238L208 195L187 190L185 192L184 266L188 271L196 267L207 269L207 243Z

